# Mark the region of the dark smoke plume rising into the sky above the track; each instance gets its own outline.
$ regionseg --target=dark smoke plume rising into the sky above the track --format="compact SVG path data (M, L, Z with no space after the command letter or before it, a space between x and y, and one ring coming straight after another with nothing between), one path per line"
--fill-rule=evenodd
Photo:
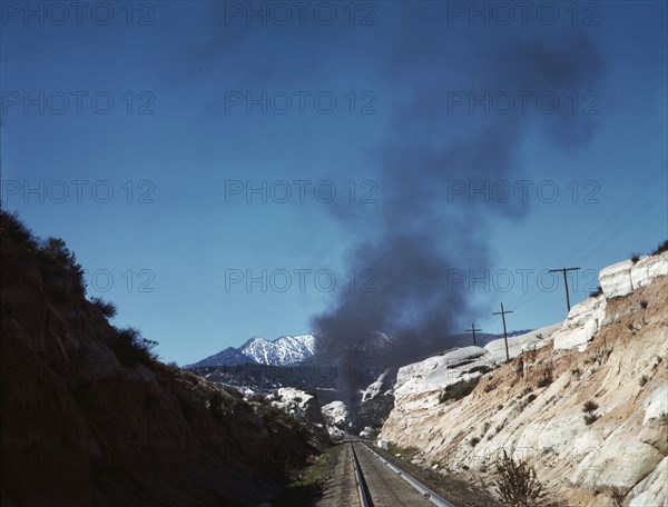
M485 115L481 108L474 115L465 108L449 113L448 90L550 90L561 99L573 90L591 90L601 73L598 51L583 36L570 36L553 44L548 37L488 40L482 49L460 56L453 68L444 68L433 43L425 49L430 58L409 63L397 58L404 67L395 76L411 87L412 99L393 111L385 140L374 150L381 168L377 219L370 225L347 210L337 212L347 228L367 228L367 239L346 260L357 271L372 269L377 291L341 291L333 308L313 319L313 328L326 337L320 352L336 355L355 368L370 334L383 331L396 338L401 359L406 360L475 317L465 287L450 290L449 271L489 266L489 217L517 217L525 206L449 203L448 182L531 177L519 171L529 135L574 149L591 137L593 123L591 117L572 115L564 103L553 115L536 109L523 115L519 108L510 115ZM391 64L386 62L389 76ZM345 378L341 388L352 404L364 382Z

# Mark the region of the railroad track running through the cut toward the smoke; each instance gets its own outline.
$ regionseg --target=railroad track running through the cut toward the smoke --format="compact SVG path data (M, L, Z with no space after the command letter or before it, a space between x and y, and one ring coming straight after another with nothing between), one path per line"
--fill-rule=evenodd
M361 507L454 507L365 444L348 443Z

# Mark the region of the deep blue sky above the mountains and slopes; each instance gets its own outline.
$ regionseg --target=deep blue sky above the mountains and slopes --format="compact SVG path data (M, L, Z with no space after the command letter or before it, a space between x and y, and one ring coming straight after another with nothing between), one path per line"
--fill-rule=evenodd
M477 17L470 2L306 2L302 19L293 2L250 4L259 14L94 2L80 19L68 3L2 4L2 205L62 237L88 295L165 360L307 332L342 288L382 294L392 280L351 251L392 221L387 202L405 209L397 228L456 217L489 251L469 264L456 233L433 231L458 251L443 285L470 305L454 330L501 331L501 301L510 328L556 322L563 287L542 270L580 266L576 302L600 268L668 236L665 2L525 18L489 2ZM504 171L472 183L443 167L432 185L425 153L488 127L514 132Z

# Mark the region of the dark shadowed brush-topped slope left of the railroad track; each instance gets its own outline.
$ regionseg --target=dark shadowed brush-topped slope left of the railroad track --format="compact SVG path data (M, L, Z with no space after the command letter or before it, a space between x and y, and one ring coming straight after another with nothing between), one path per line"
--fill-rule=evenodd
M118 330L17 227L2 213L3 506L257 505L314 451L238 392L124 366Z

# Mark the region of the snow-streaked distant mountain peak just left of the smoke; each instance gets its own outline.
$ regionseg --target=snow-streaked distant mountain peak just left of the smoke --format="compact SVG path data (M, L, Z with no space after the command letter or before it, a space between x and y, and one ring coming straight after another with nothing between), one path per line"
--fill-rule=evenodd
M190 367L234 366L244 364L283 366L308 359L315 354L313 335L282 336L268 341L250 338L239 348L228 347Z

